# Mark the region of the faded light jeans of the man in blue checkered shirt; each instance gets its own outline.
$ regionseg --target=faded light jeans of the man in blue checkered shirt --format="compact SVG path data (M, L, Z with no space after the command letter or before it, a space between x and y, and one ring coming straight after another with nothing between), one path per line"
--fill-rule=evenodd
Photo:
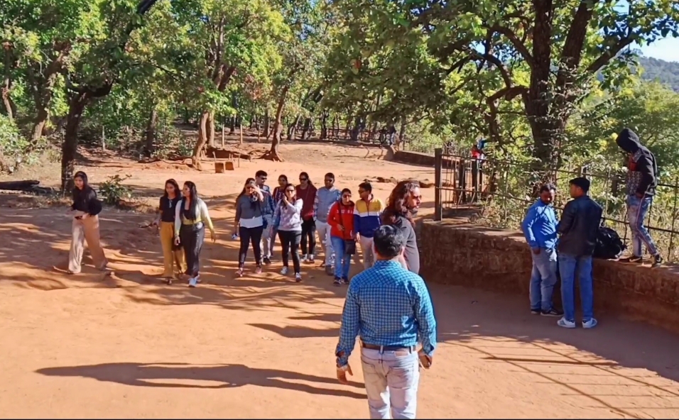
M415 419L420 381L417 351L361 350L370 418Z

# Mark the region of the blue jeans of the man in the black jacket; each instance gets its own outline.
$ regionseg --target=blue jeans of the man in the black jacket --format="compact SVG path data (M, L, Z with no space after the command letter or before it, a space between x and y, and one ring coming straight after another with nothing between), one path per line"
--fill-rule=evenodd
M561 275L561 300L563 316L567 321L575 321L575 275L580 282L580 301L582 321L590 321L594 311L594 291L592 290L592 255L576 257L559 253L559 273Z

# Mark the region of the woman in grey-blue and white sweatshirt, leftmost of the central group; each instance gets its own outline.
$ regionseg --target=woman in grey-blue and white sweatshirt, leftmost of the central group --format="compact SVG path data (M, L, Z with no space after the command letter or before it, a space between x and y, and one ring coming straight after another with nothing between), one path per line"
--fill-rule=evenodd
M238 229L241 247L238 253L238 270L236 275L241 277L245 266L248 247L252 244L255 254L255 274L261 273L261 235L264 232L264 217L262 202L264 194L257 186L254 178L248 178L245 186L236 198L236 218L234 219L234 233Z

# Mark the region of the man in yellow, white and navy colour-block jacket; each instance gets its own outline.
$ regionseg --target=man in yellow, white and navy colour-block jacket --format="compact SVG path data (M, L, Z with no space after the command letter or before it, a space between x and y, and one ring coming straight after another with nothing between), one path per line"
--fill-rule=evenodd
M359 184L359 197L354 206L354 232L357 233L361 253L363 254L363 267L367 270L375 262L372 249L372 236L381 225L380 216L384 210L384 203L372 195L370 182Z

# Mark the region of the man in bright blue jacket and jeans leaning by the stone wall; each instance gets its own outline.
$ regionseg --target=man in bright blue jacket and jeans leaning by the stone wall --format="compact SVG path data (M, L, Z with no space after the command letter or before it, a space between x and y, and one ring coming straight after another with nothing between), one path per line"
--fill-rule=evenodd
M556 284L556 226L559 223L552 203L556 187L545 184L540 187L540 198L528 208L521 223L523 236L531 248L533 272L531 273L531 314L563 316L554 308L552 294Z

